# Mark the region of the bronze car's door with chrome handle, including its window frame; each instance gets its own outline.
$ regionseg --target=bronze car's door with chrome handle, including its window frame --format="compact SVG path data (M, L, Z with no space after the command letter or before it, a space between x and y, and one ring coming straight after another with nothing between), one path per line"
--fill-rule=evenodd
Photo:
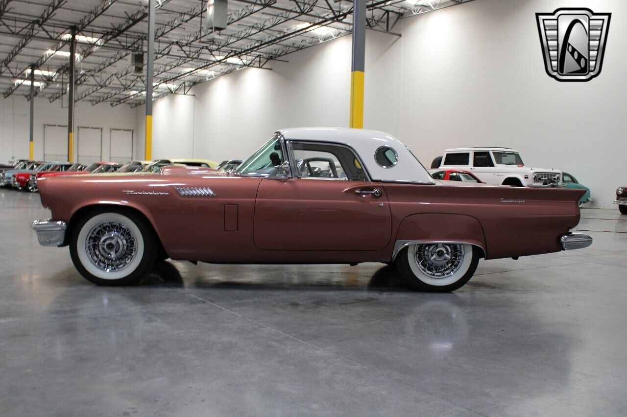
M379 250L391 238L381 183L371 182L350 148L288 142L290 178L261 181L253 238L266 250Z

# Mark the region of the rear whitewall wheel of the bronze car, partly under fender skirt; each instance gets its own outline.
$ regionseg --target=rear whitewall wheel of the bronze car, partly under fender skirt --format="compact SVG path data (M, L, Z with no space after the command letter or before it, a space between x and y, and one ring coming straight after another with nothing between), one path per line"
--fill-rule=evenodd
M396 262L414 290L450 292L475 274L479 250L468 244L415 244L401 250Z

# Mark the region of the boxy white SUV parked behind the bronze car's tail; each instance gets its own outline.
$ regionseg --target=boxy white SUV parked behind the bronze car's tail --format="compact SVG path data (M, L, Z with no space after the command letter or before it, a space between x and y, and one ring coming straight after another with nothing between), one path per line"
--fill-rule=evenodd
M433 160L431 168L468 170L492 185L563 186L561 171L525 167L519 152L510 148L447 149L443 157Z

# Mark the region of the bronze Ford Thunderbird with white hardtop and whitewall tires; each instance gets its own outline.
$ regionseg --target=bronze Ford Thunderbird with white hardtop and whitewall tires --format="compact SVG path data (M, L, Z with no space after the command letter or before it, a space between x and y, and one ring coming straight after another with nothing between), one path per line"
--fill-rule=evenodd
M587 247L582 190L436 181L393 136L280 130L235 172L38 180L40 244L69 246L102 285L157 259L250 264L394 262L420 291L453 291L478 260Z

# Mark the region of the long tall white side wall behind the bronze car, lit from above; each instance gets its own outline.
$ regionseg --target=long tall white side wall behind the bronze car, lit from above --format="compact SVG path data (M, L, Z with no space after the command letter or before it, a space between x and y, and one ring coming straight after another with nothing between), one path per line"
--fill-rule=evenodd
M365 127L398 136L424 165L450 147L516 148L528 165L576 175L594 206L613 207L627 178L627 3L594 2L613 19L603 72L587 83L560 83L544 70L535 13L568 6L582 4L477 0L403 19L395 28L402 38L368 31ZM346 126L350 37L285 58L272 71L194 88L194 135L179 136L181 146L196 157L243 158L280 127ZM157 109L174 123L189 118L164 99ZM173 140L162 135L155 131L155 141Z

